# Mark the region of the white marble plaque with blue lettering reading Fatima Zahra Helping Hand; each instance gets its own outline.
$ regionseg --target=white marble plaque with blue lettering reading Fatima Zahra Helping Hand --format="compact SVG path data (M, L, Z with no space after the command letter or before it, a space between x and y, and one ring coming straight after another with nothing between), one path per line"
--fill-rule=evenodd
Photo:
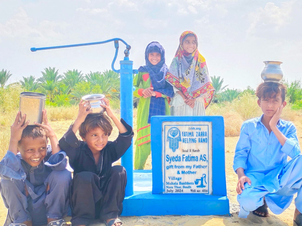
M163 122L163 193L212 194L212 122Z

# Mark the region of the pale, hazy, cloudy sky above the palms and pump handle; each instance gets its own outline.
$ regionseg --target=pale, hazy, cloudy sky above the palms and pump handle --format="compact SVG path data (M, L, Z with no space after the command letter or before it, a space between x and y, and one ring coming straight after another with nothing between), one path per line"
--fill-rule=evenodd
M145 65L147 44L158 41L170 65L183 31L198 36L210 76L230 89L255 89L263 61L283 62L284 79L300 79L302 1L264 0L0 0L0 70L39 78L44 68L59 74L111 69L114 44L31 52L49 47L121 38L130 46L133 69ZM115 68L124 59L120 42Z

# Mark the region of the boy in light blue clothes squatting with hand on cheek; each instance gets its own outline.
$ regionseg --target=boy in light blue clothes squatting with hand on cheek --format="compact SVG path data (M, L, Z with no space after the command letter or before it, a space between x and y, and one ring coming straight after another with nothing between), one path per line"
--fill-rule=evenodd
M302 225L302 156L294 124L280 119L285 93L280 83L260 84L256 95L263 115L242 124L233 165L238 175L238 216L246 218L253 211L268 217L267 206L280 214L297 192L294 221Z

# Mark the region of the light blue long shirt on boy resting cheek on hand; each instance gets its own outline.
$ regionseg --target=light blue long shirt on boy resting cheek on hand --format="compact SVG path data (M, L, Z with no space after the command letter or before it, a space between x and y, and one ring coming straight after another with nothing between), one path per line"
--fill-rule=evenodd
M283 147L274 132L261 122L263 115L243 122L236 145L233 169L243 168L252 184L245 187L264 186L270 193L280 189L278 176L287 157L300 154L296 127L289 121L279 120L277 128L287 137Z

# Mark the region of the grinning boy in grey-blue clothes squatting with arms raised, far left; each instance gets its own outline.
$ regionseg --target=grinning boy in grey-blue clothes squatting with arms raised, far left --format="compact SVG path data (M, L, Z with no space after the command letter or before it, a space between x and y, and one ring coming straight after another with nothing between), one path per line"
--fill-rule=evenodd
M5 226L62 226L69 210L71 173L66 153L43 111L43 124L28 125L18 112L8 151L0 162L0 190L8 215ZM49 138L51 147L47 146ZM20 152L20 153L18 153Z

